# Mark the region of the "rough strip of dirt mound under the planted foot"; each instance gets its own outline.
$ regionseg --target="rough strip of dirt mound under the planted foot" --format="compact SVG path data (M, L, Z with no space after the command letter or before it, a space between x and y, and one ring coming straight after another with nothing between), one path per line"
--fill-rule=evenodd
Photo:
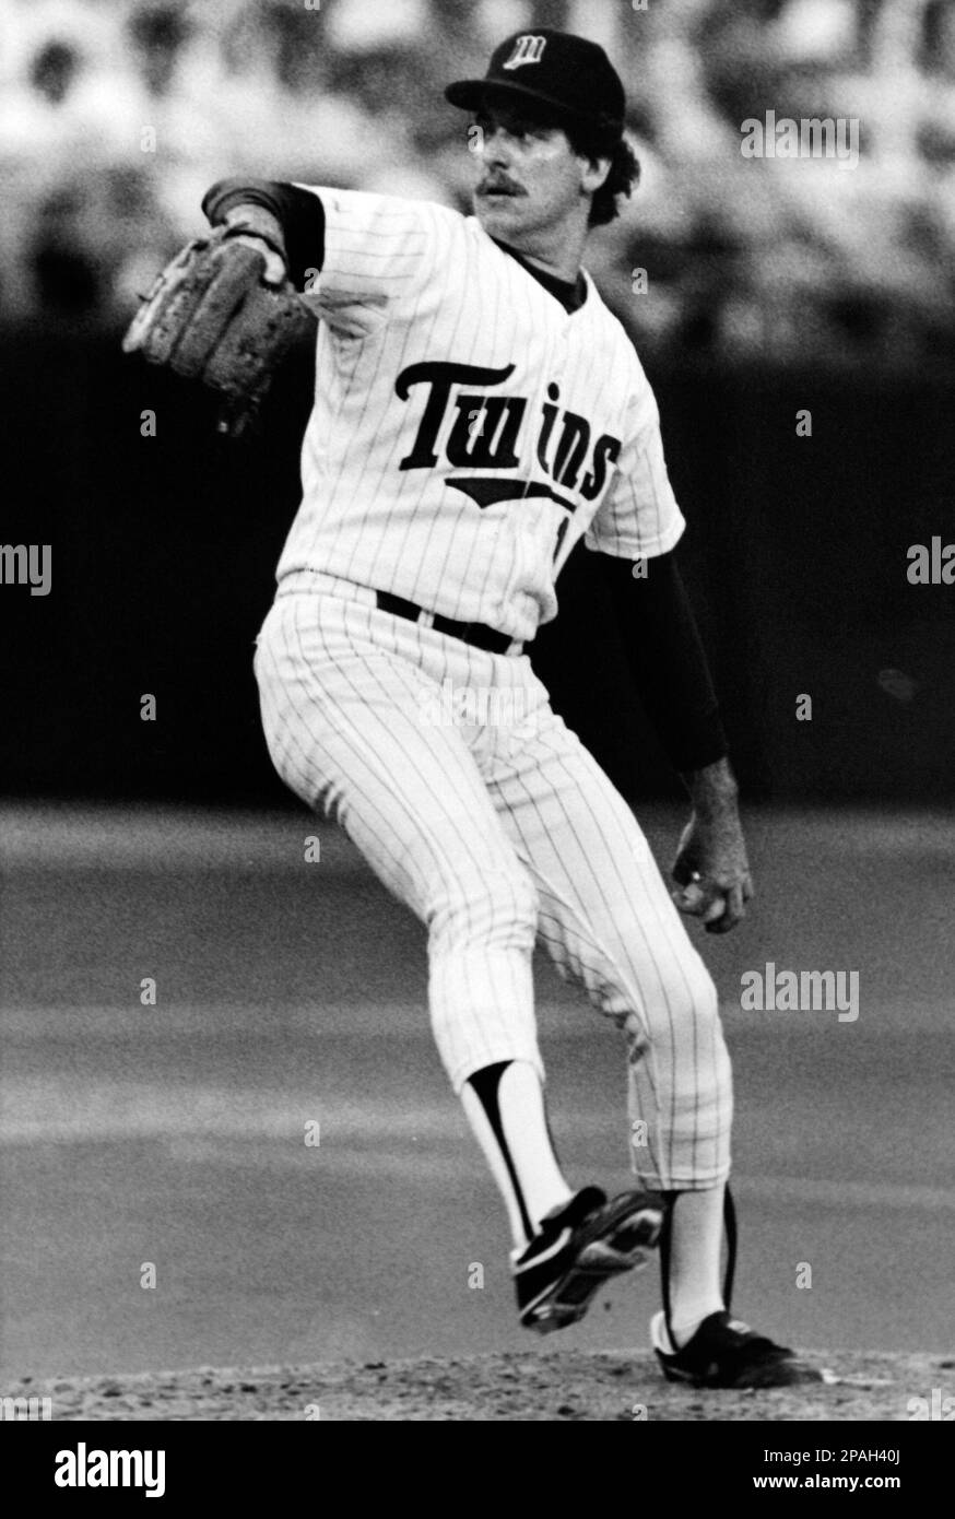
M645 1352L527 1352L328 1366L199 1367L137 1376L23 1381L70 1419L340 1420L908 1420L909 1399L955 1394L955 1356L820 1353L823 1379L777 1391L670 1387ZM923 1414L928 1417L929 1414Z

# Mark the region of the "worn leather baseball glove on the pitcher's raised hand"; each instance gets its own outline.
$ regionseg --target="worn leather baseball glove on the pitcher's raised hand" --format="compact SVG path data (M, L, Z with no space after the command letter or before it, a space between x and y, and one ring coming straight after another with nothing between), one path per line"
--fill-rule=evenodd
M243 228L217 226L178 254L143 299L123 352L202 380L223 395L219 430L241 434L255 418L288 349L314 333L293 286L263 284L266 261L235 242Z

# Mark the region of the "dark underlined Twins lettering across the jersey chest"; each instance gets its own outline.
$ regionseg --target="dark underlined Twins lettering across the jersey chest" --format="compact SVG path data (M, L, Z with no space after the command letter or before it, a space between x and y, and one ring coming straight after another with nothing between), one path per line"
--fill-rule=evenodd
M474 389L457 390L452 396L459 386L504 384L513 371L513 365L487 369L439 360L425 360L402 369L395 381L395 392L401 401L408 401L416 386L428 386L428 393L411 451L398 468L433 469L439 462L439 437L446 431L443 453L452 468L519 469L521 430L530 406L528 396L489 395L486 390ZM607 483L610 465L619 457L621 441L610 433L601 433L594 441L594 430L586 416L569 410L562 413L557 406L560 386L554 381L548 384L547 395L534 442L536 463L545 478L471 474L454 475L446 483L463 491L478 506L544 495L557 501L566 512L574 512L577 503L554 486L575 491L585 501L595 501ZM451 427L445 428L449 412L454 419Z

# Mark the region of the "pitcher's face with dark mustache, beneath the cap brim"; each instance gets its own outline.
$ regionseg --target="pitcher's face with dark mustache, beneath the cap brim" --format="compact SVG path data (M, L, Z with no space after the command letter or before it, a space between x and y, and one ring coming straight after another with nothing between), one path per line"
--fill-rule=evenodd
M474 211L490 237L515 248L533 246L536 234L559 229L582 205L586 208L588 161L533 102L489 93L474 125L481 132Z

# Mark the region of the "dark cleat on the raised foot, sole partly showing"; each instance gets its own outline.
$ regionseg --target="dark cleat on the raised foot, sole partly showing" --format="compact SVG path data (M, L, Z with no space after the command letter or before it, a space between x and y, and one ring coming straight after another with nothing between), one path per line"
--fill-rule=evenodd
M621 1192L607 1202L585 1186L541 1221L525 1250L513 1258L521 1325L551 1334L577 1323L610 1276L644 1265L663 1223L660 1198Z

